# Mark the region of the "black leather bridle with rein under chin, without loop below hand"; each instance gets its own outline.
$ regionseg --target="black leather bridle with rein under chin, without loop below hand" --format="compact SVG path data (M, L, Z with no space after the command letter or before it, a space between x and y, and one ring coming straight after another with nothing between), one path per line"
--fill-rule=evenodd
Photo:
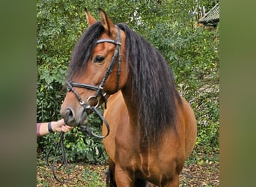
M121 31L120 28L118 27L118 25L115 25L116 28L118 29L118 40L110 40L110 39L102 39L102 40L97 40L97 44L99 43L113 43L116 45L115 47L115 52L114 55L112 57L112 61L109 64L109 67L106 71L105 76L103 77L103 80L100 82L99 86L95 86L95 85L88 85L88 84L82 84L82 83L78 83L78 82L66 82L67 83L67 91L72 91L75 95L76 98L79 100L79 104L82 105L83 108L85 108L85 110L93 110L106 124L106 127L108 129L108 132L106 135L104 136L100 136L100 135L95 135L93 132L91 132L91 129L89 129L88 126L80 126L82 127L84 130L82 131L86 131L89 132L91 135L96 136L97 138L105 138L107 135L109 135L109 123L106 121L106 119L103 117L102 114L100 114L100 111L97 110L97 107L100 105L100 96L101 98L103 98L103 103L105 104L106 107L106 102L108 99L108 95L107 93L103 90L104 85L106 83L106 80L108 79L109 75L112 73L112 69L117 61L118 58L118 78L116 80L116 85L115 85L115 91L118 91L118 87L119 87L119 79L120 79L120 73L121 73L121 52L120 52L120 48L121 48ZM89 96L88 99L86 100L86 102L84 102L81 98L81 96L79 95L79 93L77 93L77 91L74 88L85 88L85 89L89 89L89 90L94 90L96 91L95 95ZM97 104L96 105L90 105L88 103L90 103L91 99L97 99Z

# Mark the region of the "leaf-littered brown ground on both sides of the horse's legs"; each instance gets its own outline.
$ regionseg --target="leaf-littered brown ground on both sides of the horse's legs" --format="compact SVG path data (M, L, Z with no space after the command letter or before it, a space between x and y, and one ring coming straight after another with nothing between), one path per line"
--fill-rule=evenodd
M107 165L87 165L85 163L69 164L70 181L58 183L52 171L45 162L37 161L37 187L43 186L106 186ZM58 177L66 176L65 171L59 171ZM219 162L198 162L186 164L180 174L180 186L219 186Z

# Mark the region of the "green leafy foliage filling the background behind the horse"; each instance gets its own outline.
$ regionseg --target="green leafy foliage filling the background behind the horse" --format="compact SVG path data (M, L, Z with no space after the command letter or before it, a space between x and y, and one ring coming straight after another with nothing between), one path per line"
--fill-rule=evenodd
M60 118L67 65L71 52L87 28L84 7L99 19L98 7L115 23L125 22L144 36L170 64L177 88L189 101L198 121L197 149L219 147L219 27L198 27L201 7L217 1L53 1L37 0L37 121ZM91 115L89 125L100 134L101 121ZM46 153L56 135L37 138L37 151ZM78 129L66 134L70 161L106 162L102 141Z

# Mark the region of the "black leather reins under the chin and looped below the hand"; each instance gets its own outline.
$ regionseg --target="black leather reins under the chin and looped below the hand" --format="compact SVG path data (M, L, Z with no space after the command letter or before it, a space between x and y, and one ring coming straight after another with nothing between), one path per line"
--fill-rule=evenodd
M106 138L106 136L109 135L110 129L109 129L109 123L107 122L107 120L105 119L105 117L103 117L102 114L100 114L100 111L97 110L97 108L95 108L94 106L90 107L99 117L101 120L103 120L103 122L106 125L107 128L107 133L106 135L96 135L94 134L94 132L91 131L91 128L89 126L80 126L80 130L84 133L88 133L91 136L94 136L96 138ZM67 183L70 180L70 168L68 167L67 164L67 156L65 153L65 149L64 149L64 133L65 132L60 132L57 138L57 141L55 142L55 145L52 145L52 147L49 149L49 152L46 154L46 165L52 170L52 174L53 177L55 178L55 180L57 180L59 183ZM67 171L67 180L60 180L58 179L56 172L55 172L55 159L58 153L58 149L61 146L61 154L62 154L62 160L61 160L61 166L57 168L57 170L60 170L61 167L64 165L66 167L66 171ZM49 154L52 152L53 147L55 147L55 153L54 153L54 157L53 157L53 161L52 161L52 165L49 165Z

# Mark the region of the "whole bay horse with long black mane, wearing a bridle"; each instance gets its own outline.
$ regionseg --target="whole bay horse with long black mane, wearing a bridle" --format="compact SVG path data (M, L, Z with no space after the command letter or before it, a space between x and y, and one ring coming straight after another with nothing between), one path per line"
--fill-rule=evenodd
M67 70L61 115L70 126L103 103L103 139L109 156L108 186L179 186L195 146L197 125L180 96L167 62L144 37L115 25L100 9L86 10L88 29L76 43Z

